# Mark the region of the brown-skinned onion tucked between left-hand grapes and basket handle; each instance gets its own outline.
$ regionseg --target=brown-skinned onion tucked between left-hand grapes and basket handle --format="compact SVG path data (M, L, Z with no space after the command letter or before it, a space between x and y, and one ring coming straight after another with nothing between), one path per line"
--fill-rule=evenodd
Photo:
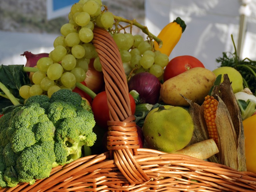
M87 87L91 89L94 93L99 93L102 91L104 87L104 77L103 73L97 71L93 67L93 59L90 60L88 65L88 71L86 72L86 78L84 82L86 83Z

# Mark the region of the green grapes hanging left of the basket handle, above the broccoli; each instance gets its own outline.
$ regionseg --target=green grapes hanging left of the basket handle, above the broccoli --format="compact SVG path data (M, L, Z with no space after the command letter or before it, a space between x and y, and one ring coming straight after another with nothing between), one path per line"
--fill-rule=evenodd
M49 97L62 88L73 90L77 82L86 78L90 59L95 59L95 68L102 70L93 39L94 25L105 29L114 23L111 12L102 11L101 0L80 0L72 5L69 23L60 28L61 35L54 42L49 57L37 62L39 71L32 76L32 86L22 86L20 95L24 99L33 95Z

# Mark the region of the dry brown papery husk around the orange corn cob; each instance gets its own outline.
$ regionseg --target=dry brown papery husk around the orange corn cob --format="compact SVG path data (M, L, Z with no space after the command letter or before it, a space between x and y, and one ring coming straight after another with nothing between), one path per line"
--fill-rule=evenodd
M227 74L224 74L224 81L219 86L213 87L211 95L219 101L215 119L219 153L211 156L209 161L227 165L238 171L246 171L242 117ZM195 136L191 143L196 142L195 139L198 139L198 142L202 138L209 139L203 105L198 107L191 101L188 102L189 112L195 125Z

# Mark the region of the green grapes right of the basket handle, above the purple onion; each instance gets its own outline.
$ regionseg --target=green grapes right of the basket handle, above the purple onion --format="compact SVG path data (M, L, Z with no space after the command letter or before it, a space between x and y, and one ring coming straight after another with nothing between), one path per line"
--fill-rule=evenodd
M152 40L144 40L142 35L131 33L114 33L113 38L120 50L124 68L128 68L126 75L146 71L162 78L169 57L160 51L154 51Z

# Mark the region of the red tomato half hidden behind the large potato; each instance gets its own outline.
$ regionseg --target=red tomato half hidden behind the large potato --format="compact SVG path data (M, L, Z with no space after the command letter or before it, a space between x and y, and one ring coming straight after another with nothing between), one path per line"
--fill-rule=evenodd
M190 55L174 57L169 61L164 70L164 81L175 77L191 68L204 67L203 63Z

